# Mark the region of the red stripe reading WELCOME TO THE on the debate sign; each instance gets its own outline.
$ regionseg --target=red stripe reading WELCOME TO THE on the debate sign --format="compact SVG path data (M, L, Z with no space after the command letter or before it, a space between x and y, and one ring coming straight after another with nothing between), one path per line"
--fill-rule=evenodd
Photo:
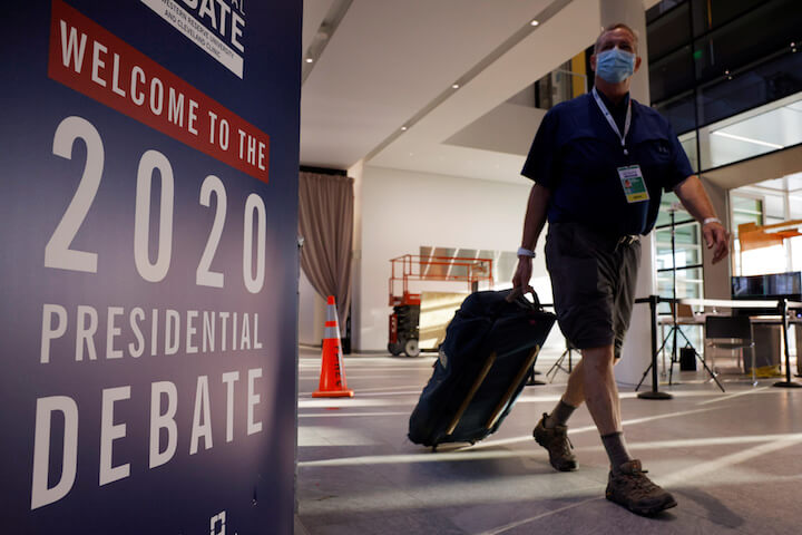
M53 80L267 182L267 134L61 0L48 64Z

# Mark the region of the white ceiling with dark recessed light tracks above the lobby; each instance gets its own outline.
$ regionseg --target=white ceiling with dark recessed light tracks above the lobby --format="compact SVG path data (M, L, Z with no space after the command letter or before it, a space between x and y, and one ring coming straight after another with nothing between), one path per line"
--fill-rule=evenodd
M304 0L301 164L517 181L542 111L507 100L599 28L599 0Z

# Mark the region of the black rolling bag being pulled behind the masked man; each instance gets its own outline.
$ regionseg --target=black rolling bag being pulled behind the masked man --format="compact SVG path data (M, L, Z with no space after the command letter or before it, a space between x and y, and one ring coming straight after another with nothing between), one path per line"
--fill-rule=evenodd
M412 411L409 438L437 448L496 432L520 395L556 317L537 295L476 292L446 330L434 372Z

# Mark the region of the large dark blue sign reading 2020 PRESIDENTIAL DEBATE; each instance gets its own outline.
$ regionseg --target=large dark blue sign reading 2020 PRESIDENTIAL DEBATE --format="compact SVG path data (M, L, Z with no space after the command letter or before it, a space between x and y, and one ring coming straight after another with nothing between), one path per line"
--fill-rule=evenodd
M9 533L292 533L301 9L6 11Z

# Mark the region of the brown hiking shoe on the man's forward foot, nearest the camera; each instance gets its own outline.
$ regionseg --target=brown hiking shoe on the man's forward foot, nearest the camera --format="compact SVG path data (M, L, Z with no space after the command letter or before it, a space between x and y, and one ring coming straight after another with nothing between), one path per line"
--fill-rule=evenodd
M652 516L676 507L674 496L646 477L637 459L624 463L618 473L610 471L605 496L637 515Z

